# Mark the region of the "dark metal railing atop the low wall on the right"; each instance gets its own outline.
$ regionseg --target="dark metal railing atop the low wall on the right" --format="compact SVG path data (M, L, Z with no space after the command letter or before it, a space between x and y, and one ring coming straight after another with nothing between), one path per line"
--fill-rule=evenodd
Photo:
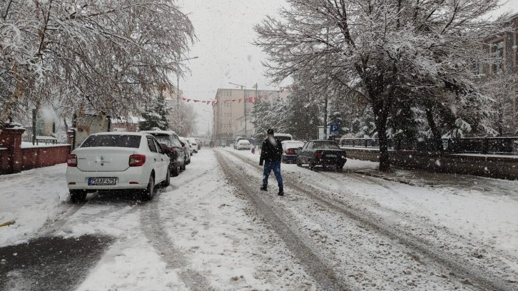
M377 138L341 138L339 146L353 148L379 148ZM425 139L420 141L392 141L389 138L388 147L393 150L437 151L436 141ZM487 137L487 138L443 138L442 150L447 153L482 153L482 154L512 154L518 155L518 137Z

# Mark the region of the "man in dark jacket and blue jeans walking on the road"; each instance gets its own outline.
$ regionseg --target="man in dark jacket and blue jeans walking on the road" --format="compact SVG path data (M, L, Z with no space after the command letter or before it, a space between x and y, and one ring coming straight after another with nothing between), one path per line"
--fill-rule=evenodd
M283 157L283 146L280 141L273 136L273 129L268 129L268 136L263 141L261 146L261 156L259 165L265 165L263 173L263 186L261 190L268 190L268 176L273 170L277 183L279 185L279 195L284 195L283 177L280 175L280 159Z

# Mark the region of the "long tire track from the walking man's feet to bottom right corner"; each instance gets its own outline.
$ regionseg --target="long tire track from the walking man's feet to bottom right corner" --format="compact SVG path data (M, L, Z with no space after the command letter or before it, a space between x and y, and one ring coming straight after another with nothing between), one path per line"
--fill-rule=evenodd
M256 170L262 170L262 168L259 165L256 165L252 161L243 158L240 155L237 155L230 151L226 153L242 160L244 163L247 163L248 165L251 165ZM221 153L218 153L218 155L221 156ZM288 173L287 176L289 175L290 173ZM293 178L290 180L298 180L298 178ZM286 179L285 185L297 190L300 193L304 193L308 198L311 198L316 203L323 205L331 210L334 210L337 213L341 213L342 215L345 215L347 218L356 220L358 223L365 225L366 228L369 228L371 230L374 230L376 233L380 233L382 235L387 236L388 238L396 240L397 242L400 242L400 244L409 247L411 250L414 250L415 252L428 258L432 262L435 262L436 264L442 267L446 267L448 270L450 270L450 275L457 277L458 280L463 284L472 285L472 287L476 287L481 290L511 291L517 290L518 288L515 280L504 280L503 278L497 277L494 274L487 274L487 266L473 265L472 262L462 260L459 257L453 257L453 255L450 255L447 252L440 250L439 247L435 247L435 245L430 245L430 242L427 242L422 238L418 238L412 234L406 233L401 229L397 228L395 225L390 225L384 223L382 220L372 218L372 213L367 213L367 211L355 209L354 205L347 205L346 202L339 202L329 198L324 198L323 195L318 195L318 193L322 192L322 189L315 188L312 185L308 184L300 185L300 183L293 183L290 180Z

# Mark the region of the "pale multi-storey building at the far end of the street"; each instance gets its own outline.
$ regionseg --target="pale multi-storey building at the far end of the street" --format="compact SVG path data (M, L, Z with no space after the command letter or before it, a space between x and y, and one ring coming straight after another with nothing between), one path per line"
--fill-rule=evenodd
M228 145L238 136L255 133L252 111L255 101L286 100L290 91L218 88L213 106L213 133L219 145Z

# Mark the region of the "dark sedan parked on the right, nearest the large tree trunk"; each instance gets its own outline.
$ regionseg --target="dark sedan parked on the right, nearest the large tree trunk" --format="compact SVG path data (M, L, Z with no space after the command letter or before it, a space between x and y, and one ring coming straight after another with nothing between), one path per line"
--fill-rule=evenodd
M310 170L315 170L315 165L335 168L341 171L347 162L345 150L342 150L335 141L313 140L308 141L297 151L297 165L301 167L308 164Z

